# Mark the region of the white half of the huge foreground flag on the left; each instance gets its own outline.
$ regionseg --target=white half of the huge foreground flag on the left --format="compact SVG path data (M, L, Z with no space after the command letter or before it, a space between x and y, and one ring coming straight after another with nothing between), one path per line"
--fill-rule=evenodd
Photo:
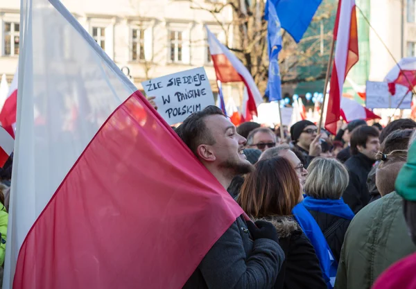
M23 0L21 29L5 289L28 230L104 121L136 91L60 1Z

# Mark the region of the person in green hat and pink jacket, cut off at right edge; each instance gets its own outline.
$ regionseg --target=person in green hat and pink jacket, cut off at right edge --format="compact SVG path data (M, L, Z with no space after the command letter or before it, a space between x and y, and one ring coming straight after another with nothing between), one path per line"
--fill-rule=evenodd
M410 146L408 161L396 179L396 191L404 199L404 218L416 245L416 142ZM393 264L374 283L373 289L416 288L416 253Z

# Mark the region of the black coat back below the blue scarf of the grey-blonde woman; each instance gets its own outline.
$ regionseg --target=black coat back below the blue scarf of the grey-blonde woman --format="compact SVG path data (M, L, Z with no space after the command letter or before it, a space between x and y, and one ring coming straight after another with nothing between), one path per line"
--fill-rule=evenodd
M327 239L327 243L332 251L333 257L337 262L339 262L345 232L347 232L351 220L333 216L322 211L311 210L309 213L311 213L315 221L318 223L322 234L324 234L325 239Z

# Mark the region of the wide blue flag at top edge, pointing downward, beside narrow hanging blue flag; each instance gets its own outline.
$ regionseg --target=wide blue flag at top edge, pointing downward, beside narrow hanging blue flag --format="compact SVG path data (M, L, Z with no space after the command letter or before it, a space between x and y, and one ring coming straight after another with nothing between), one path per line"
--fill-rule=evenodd
M322 0L268 0L274 4L281 27L295 42L302 40Z

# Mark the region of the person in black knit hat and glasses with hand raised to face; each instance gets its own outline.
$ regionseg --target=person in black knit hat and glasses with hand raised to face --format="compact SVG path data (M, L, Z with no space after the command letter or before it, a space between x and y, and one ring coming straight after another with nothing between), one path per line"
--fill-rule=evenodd
M305 168L309 166L314 157L322 152L318 128L311 121L298 121L291 126L292 144L302 152L306 160Z

